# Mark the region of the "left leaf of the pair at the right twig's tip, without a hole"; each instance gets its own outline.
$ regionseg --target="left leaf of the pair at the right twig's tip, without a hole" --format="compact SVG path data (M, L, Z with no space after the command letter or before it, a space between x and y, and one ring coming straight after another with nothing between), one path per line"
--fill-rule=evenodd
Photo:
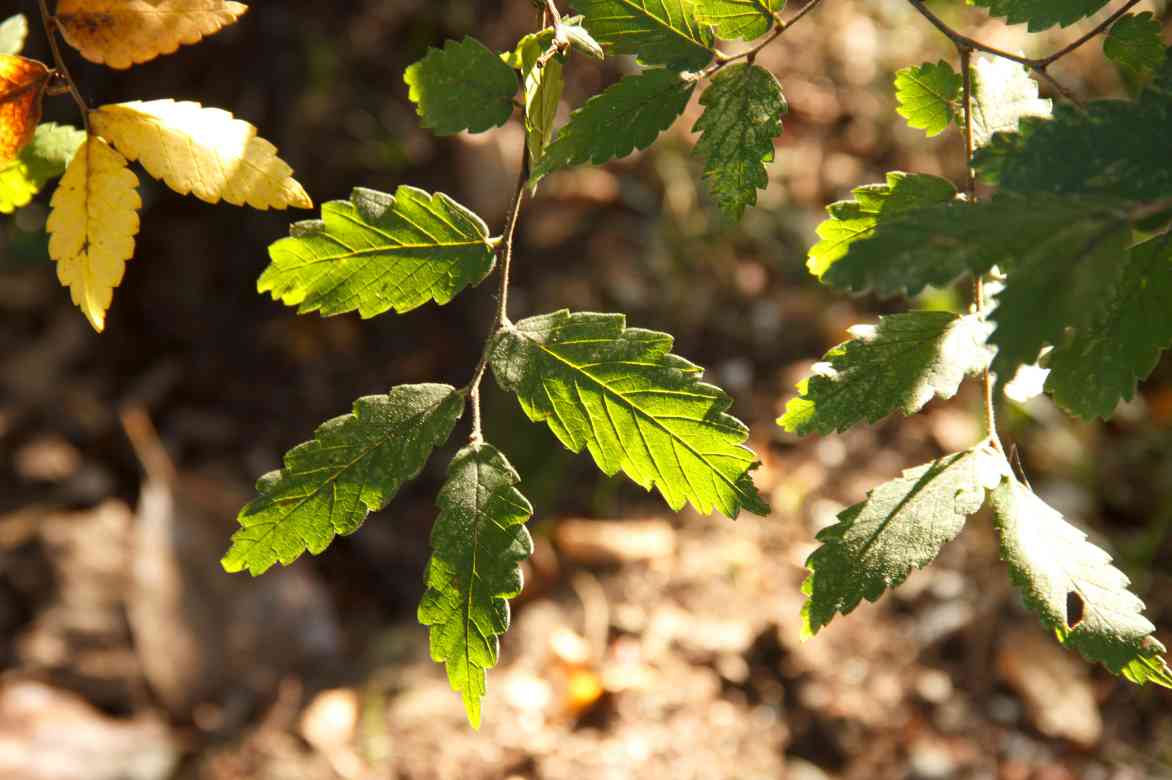
M840 513L837 524L818 533L822 547L806 559L803 638L931 563L1008 467L983 446L958 452L905 471Z

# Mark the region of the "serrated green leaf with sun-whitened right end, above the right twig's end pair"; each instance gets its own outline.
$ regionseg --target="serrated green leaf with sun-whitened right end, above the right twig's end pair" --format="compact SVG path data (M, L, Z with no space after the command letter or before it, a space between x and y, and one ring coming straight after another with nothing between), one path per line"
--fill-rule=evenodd
M826 353L777 424L791 433L841 432L894 411L914 415L933 397L952 398L966 376L988 367L988 326L975 315L912 312L851 328Z

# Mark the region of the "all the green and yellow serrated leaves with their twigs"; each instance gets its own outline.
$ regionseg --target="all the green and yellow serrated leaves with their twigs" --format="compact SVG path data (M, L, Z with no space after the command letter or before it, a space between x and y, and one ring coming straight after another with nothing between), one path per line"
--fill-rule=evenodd
M618 313L538 313L515 323L510 267L526 198L545 177L648 148L694 98L703 178L715 207L740 219L768 186L788 110L785 74L769 73L756 55L822 1L786 11L782 0L568 0L561 8L537 0L533 29L512 48L495 52L466 36L408 68L404 91L437 135L515 119L524 129L519 186L500 232L443 193L356 189L272 245L259 289L299 313L373 317L449 303L495 273L497 308L482 358L462 388L395 386L322 424L260 479L224 567L259 574L355 532L422 472L470 409L468 443L437 499L418 618L478 726L486 670L509 628L507 600L520 591L519 565L532 549L522 475L484 440L481 394L490 372L530 420L550 429L551 442L588 451L602 473L622 472L670 508L768 514L752 483L748 427L729 413L730 397L673 353L668 334L631 327ZM1172 61L1147 14L1120 9L1090 35L1028 59L962 35L922 0L908 2L955 45L956 57L894 74L893 108L928 135L955 129L973 170L962 183L895 171L854 189L829 206L808 267L824 285L884 297L963 282L972 306L852 328L778 423L800 436L839 432L917 413L975 378L987 436L877 486L819 533L803 587L804 634L899 586L988 504L1009 575L1058 639L1136 683L1172 687L1164 646L1126 576L1018 481L994 417L996 390L1043 354L1045 388L1059 405L1108 417L1172 344ZM972 5L1041 30L1084 20L1108 0ZM60 0L47 21L87 59L128 67L243 12L220 0ZM96 328L139 227L132 160L211 203L311 206L251 125L173 101L90 109L63 62L50 68L19 56L26 35L22 18L0 25L0 210L28 203L63 173L50 252ZM1048 67L1096 37L1126 71L1133 100L1064 102L1072 93ZM727 49L723 41L749 43ZM626 75L559 126L575 57L628 55ZM1037 75L1057 94L1056 107L1040 96ZM77 101L84 130L38 126L43 95L59 93ZM977 177L992 192L977 189Z

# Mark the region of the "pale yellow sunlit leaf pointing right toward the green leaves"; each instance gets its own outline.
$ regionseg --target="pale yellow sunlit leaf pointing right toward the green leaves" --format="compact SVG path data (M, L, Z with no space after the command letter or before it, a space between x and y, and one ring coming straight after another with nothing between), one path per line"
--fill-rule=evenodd
M253 208L312 208L293 169L257 129L227 111L171 100L90 111L90 126L179 194Z

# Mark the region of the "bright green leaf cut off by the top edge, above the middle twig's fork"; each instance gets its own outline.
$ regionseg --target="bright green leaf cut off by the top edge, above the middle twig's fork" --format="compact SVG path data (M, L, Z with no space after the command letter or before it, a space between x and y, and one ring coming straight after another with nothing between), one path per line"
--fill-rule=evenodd
M694 0L573 0L586 29L612 54L636 54L646 66L696 70L711 62L713 30Z

